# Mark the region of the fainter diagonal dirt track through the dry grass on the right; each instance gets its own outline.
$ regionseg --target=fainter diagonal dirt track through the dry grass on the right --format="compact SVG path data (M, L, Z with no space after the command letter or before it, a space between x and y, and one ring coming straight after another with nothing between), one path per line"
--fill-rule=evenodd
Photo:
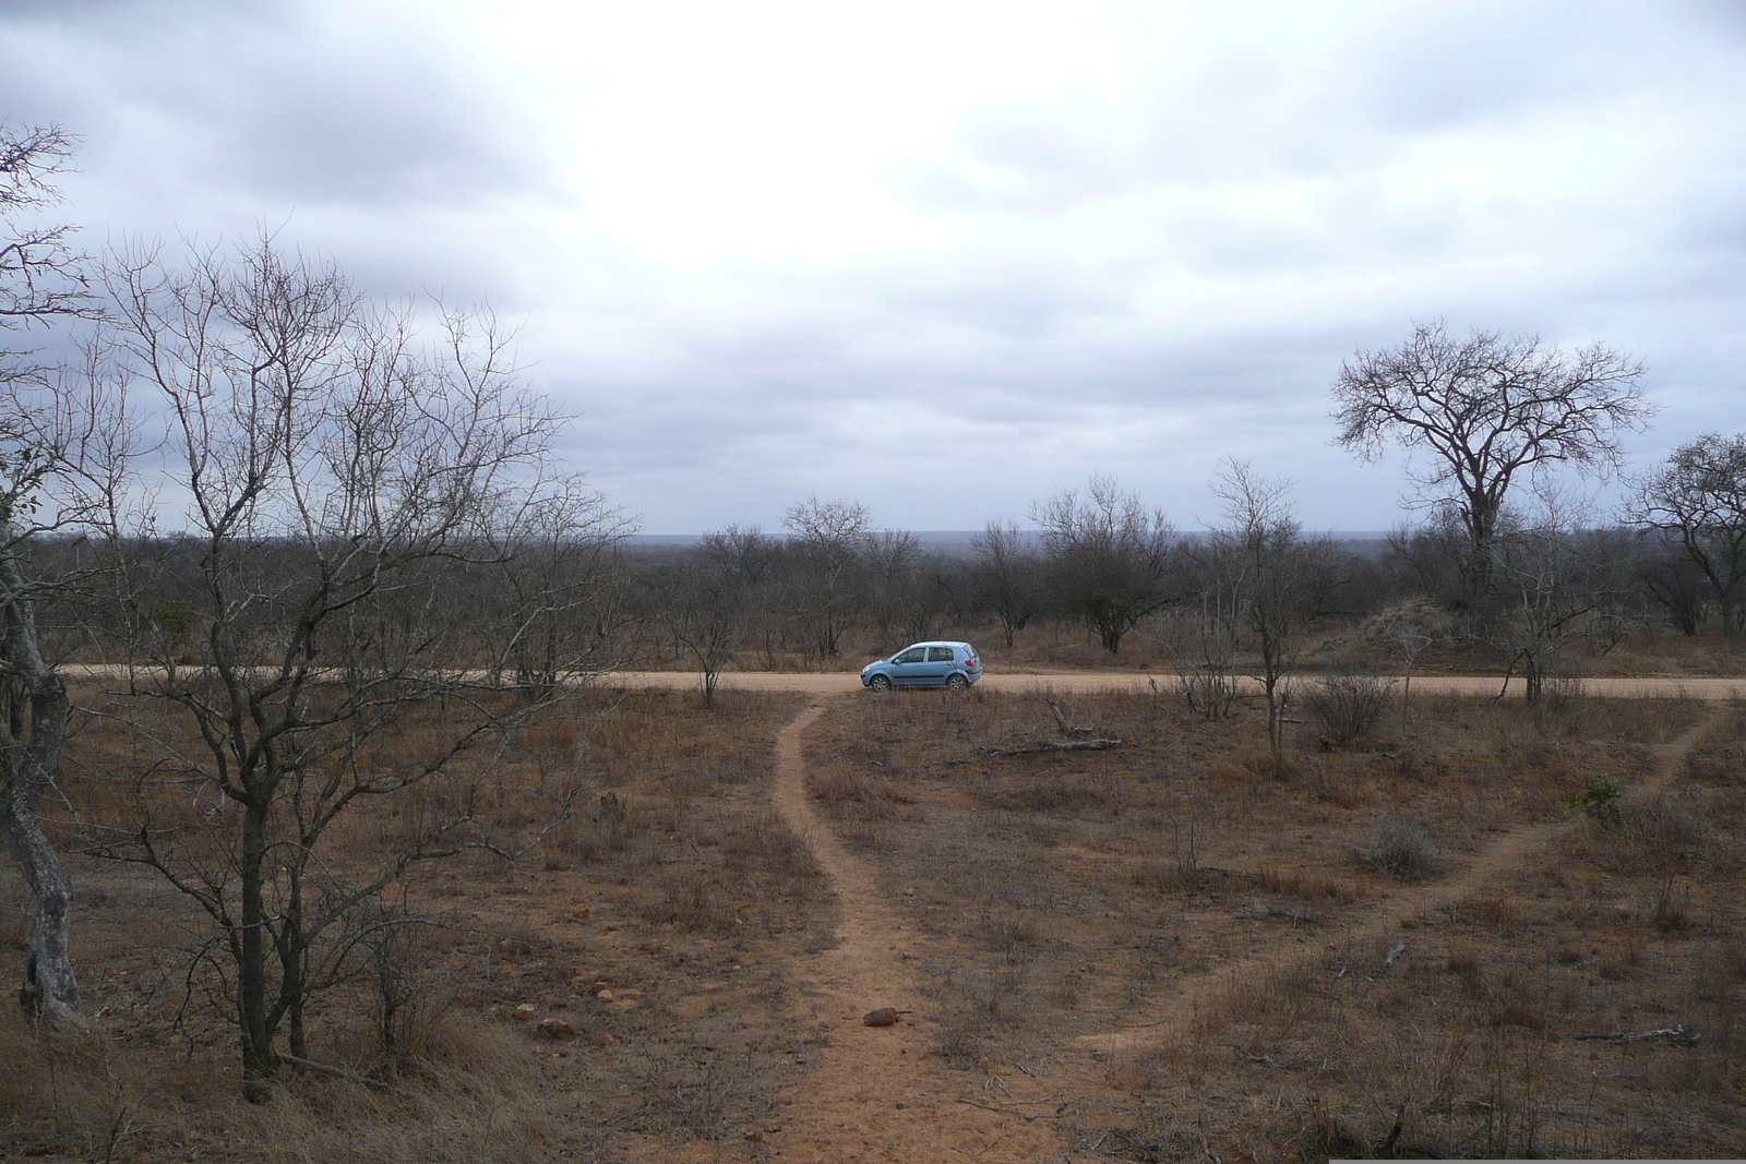
M1633 785L1626 801L1643 803L1664 792L1683 770L1692 749L1695 749L1697 743L1727 717L1727 714L1729 710L1725 707L1716 707L1704 719L1687 728L1669 743L1655 745L1653 768L1650 768L1648 777ZM1550 824L1509 829L1503 836L1481 850L1458 874L1444 881L1392 895L1376 916L1348 927L1341 937L1348 942L1365 942L1378 941L1388 934L1399 934L1404 921L1446 909L1470 897L1488 883L1521 869L1533 853L1543 852L1559 838L1568 836L1578 827L1578 824L1580 822L1557 820ZM1407 953L1411 953L1411 948ZM1154 1019L1135 1023L1114 1031L1081 1035L1074 1042L1107 1054L1135 1056L1184 1040L1189 1035L1196 1016L1224 995L1231 993L1240 983L1282 972L1303 958L1304 949L1292 944L1289 948L1269 949L1240 962L1226 963L1206 977L1184 983L1180 993L1163 1003Z

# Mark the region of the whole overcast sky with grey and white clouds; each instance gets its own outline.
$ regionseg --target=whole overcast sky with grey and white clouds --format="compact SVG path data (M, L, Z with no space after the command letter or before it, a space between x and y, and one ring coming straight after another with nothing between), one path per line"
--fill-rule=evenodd
M66 216L489 300L651 532L971 529L1224 455L1399 522L1327 389L1413 321L1606 340L1636 464L1746 428L1746 5L0 0Z

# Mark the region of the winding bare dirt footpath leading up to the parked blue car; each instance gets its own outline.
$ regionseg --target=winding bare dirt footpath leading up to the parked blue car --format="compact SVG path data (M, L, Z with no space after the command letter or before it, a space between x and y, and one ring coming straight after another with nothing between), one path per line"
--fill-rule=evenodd
M1032 1161L1060 1143L1044 1120L960 1103L962 1082L927 1059L929 1031L904 955L911 932L807 799L801 738L824 712L815 702L777 735L775 810L812 846L836 892L838 944L798 967L801 1007L829 1031L812 1075L782 1098L784 1161ZM863 1026L876 1007L915 1010L892 1028Z

